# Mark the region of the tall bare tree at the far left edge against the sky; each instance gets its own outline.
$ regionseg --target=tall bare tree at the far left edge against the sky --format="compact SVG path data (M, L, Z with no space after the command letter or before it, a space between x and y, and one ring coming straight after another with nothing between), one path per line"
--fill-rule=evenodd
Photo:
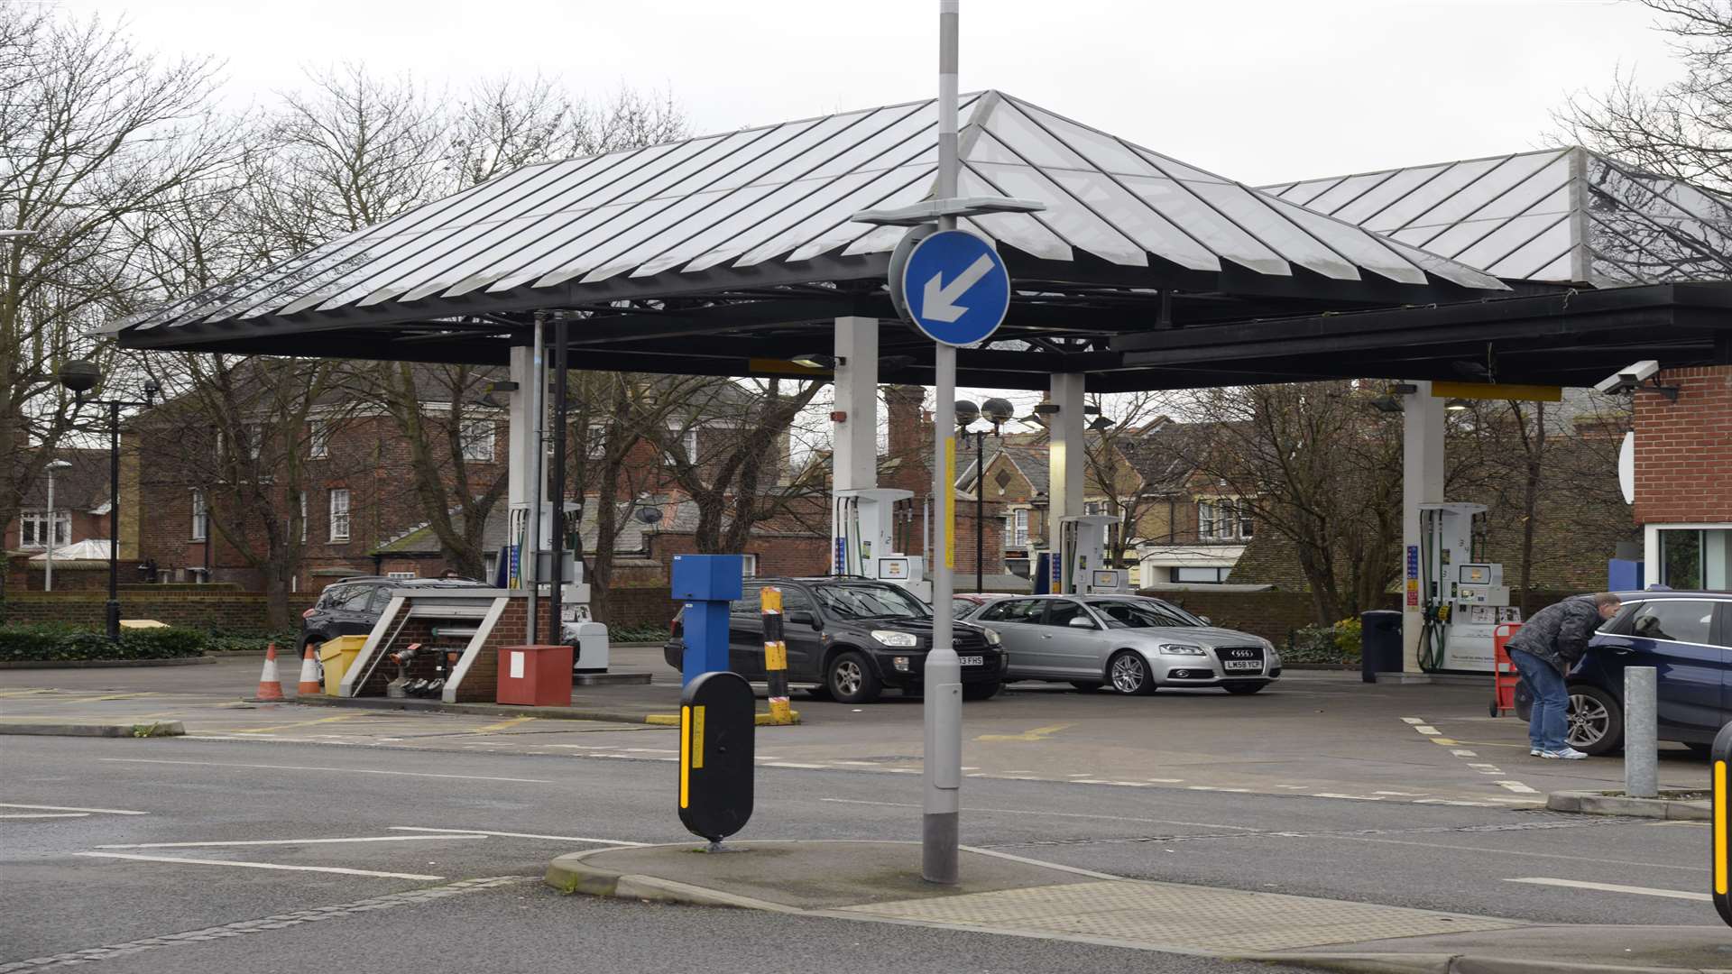
M152 298L132 224L237 161L211 85L206 59L163 61L100 19L0 0L0 227L33 234L0 241L0 522L74 426L59 366L95 357L106 392L125 392L87 334Z

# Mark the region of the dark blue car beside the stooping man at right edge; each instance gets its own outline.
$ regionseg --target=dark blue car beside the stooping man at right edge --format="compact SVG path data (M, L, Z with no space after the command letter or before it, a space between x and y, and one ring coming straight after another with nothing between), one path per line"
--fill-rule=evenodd
M1654 667L1659 740L1708 752L1732 721L1732 593L1619 593L1623 608L1600 626L1569 671L1569 745L1607 754L1623 745L1623 671ZM1528 719L1526 685L1516 712Z

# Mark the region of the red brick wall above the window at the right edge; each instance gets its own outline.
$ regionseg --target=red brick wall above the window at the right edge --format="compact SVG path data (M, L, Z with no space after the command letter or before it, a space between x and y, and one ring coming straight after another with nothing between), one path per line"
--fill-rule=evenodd
M1635 393L1635 522L1732 520L1732 366L1666 369Z

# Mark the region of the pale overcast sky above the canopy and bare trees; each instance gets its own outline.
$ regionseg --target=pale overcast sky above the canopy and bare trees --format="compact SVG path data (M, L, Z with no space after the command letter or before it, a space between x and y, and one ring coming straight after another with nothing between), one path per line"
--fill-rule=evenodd
M670 92L696 132L923 99L932 0L61 0L267 101L359 61L435 88L511 71ZM1540 146L1571 92L1673 76L1618 0L963 0L963 90L1003 88L1251 184Z

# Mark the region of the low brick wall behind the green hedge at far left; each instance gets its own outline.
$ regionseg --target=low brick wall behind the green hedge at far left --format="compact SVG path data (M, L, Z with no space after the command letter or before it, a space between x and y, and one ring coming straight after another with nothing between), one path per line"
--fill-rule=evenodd
M59 586L59 568L55 568L55 586ZM100 629L106 624L107 577L100 591L7 591L5 603L0 605L0 617L7 622L69 622L88 629ZM187 626L192 629L242 629L260 631L265 627L265 596L260 593L237 591L184 591L168 586L139 586L151 591L128 591L121 588L121 619L154 619L170 626ZM158 591L163 589L163 591ZM312 605L310 596L291 598L289 612L298 619L301 610Z

